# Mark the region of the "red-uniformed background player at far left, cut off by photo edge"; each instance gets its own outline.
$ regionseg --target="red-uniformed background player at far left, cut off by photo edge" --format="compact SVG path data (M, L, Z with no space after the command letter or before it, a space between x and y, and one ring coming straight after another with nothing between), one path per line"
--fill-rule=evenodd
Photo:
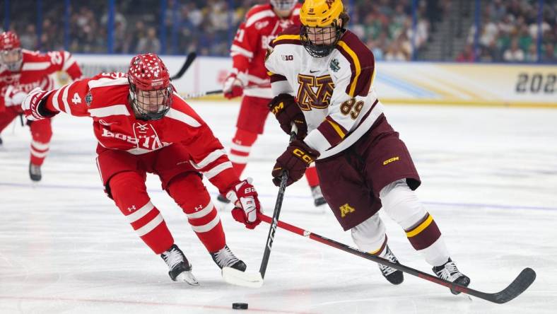
M69 52L41 54L23 50L16 33L0 34L0 132L22 113L21 101L33 88L45 91L54 88L52 74L57 71L66 71L73 80L81 77L81 69ZM40 181L40 167L48 153L52 127L49 119L28 124L32 136L29 175L31 180Z

